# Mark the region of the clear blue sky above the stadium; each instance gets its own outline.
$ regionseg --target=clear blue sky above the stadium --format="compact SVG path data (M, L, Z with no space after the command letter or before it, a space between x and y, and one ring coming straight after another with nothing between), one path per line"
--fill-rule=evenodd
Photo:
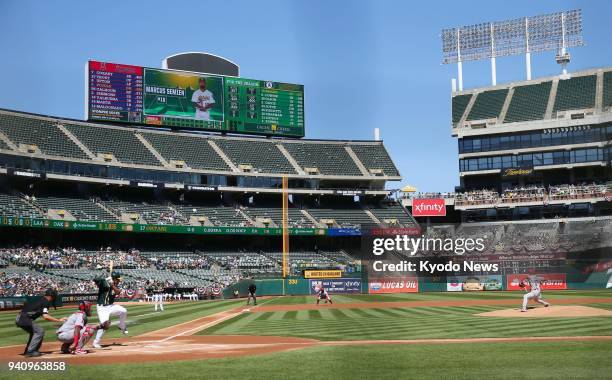
M171 5L171 6L169 6ZM570 70L612 65L609 1L0 1L0 107L83 118L88 59L159 67L206 51L241 76L302 83L306 137L372 139L379 127L403 183L458 184L450 137L451 78L440 30L582 8L586 46ZM498 58L498 83L524 79L524 58ZM558 74L554 54L533 76ZM464 65L465 87L488 85L489 62ZM394 184L399 186L399 184Z

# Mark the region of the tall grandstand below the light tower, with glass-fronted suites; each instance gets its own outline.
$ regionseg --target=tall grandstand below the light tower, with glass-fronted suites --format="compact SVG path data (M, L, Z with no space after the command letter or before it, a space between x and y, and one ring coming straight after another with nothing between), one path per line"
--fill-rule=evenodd
M451 134L454 221L612 213L611 68L454 92Z

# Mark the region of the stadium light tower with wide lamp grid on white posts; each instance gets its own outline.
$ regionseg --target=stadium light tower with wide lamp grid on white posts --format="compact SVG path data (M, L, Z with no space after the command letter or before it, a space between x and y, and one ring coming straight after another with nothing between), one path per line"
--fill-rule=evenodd
M568 48L583 46L582 10L557 12L514 20L442 29L442 63L457 64L459 91L463 91L463 62L491 60L491 84L497 84L496 57L525 54L527 80L531 53L556 50L556 61L567 77Z

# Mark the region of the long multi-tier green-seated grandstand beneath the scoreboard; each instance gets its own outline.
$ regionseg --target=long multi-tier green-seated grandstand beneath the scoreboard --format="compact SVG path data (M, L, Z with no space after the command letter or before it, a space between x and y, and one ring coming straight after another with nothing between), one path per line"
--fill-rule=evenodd
M234 137L0 110L0 264L13 284L3 295L46 286L88 293L110 260L132 295L153 283L204 297L245 277L280 276L283 177L291 275L350 276L361 230L417 226L389 198L387 181L401 176L382 141Z

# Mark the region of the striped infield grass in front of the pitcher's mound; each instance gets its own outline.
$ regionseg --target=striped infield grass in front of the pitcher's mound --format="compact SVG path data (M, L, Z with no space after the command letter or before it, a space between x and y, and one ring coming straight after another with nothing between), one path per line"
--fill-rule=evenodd
M612 335L610 317L532 319L475 315L502 308L505 307L326 309L322 306L318 310L244 313L201 334L280 335L321 340Z

